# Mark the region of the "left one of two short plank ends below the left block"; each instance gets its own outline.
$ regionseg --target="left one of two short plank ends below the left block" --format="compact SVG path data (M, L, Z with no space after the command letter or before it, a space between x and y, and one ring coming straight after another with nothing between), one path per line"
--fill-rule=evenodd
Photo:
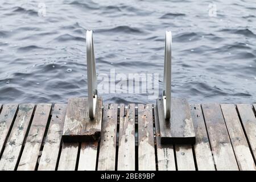
M79 143L63 143L58 171L75 171Z

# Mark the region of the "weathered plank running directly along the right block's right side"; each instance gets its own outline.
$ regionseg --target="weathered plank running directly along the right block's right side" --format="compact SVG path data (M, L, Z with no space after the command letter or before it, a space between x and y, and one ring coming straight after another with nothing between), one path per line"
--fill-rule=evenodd
M194 146L197 169L199 171L214 171L212 150L205 128L204 116L200 104L191 105L191 115L196 132L196 144Z

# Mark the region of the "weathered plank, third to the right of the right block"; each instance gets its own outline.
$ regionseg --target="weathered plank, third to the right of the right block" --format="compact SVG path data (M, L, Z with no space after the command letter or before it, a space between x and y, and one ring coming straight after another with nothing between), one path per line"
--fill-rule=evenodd
M229 131L229 137L232 142L233 150L237 158L240 170L256 170L253 156L246 141L245 134L237 114L236 106L233 104L222 104L221 110L224 115L226 126Z

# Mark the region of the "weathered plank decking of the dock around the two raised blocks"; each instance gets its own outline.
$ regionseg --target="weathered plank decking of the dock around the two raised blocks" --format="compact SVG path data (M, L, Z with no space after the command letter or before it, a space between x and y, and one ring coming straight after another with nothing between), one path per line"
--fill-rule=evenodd
M0 170L255 170L256 105L193 104L196 144L160 144L157 109L105 104L100 142L63 143L66 104L0 104Z

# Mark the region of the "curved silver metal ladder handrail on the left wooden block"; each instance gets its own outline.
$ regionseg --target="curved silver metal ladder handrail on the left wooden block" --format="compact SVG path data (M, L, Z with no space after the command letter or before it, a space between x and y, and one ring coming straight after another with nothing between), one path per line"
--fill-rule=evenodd
M94 119L97 101L97 75L93 47L93 32L86 31L88 109L90 119Z

